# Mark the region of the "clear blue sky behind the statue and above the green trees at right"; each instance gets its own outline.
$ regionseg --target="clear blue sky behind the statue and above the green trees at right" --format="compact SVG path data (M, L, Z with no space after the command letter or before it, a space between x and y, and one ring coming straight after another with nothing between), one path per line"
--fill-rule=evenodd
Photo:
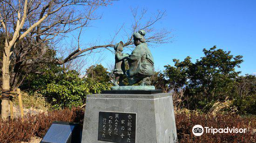
M193 61L203 56L203 48L217 48L243 55L244 62L238 71L256 72L256 0L120 0L100 8L102 19L93 21L92 27L82 33L83 43L97 41L104 44L111 34L125 23L132 21L131 8L146 8L148 14L166 10L167 16L156 23L156 28L172 30L173 42L151 48L157 69L173 65L172 59L183 60L188 55ZM122 33L117 41L122 39ZM87 45L84 45L87 46ZM114 55L104 51L101 64L114 62Z

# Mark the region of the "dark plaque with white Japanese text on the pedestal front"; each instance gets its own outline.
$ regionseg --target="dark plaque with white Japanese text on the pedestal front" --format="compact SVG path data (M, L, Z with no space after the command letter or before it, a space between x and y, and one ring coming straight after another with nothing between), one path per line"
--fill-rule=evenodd
M114 143L136 142L136 113L99 112L98 140Z

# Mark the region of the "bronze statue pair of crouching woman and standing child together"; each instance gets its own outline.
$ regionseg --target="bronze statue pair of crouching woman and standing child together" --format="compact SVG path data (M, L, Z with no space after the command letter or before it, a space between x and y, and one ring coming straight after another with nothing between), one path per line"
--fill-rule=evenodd
M134 45L136 48L132 51L130 55L122 54L123 51L123 42L116 44L115 49L118 49L118 45L120 49L122 47L122 51L116 50L116 64L114 74L116 74L116 79L114 82L115 86L118 86L117 80L119 79L120 75L124 73L124 60L127 60L129 63L129 70L127 70L126 76L128 78L129 85L136 84L140 81L140 85L149 85L150 84L150 77L154 74L154 59L147 47L146 40L144 35L146 32L144 30L140 30L133 34ZM120 68L119 68L120 67ZM122 80L121 84L122 84ZM120 85L120 84L119 84Z

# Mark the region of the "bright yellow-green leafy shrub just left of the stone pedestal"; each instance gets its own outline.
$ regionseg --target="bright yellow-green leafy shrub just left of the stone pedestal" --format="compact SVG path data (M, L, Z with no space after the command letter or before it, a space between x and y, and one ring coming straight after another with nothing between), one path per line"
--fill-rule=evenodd
M65 76L70 76L69 73ZM71 74L71 76L73 76ZM53 105L53 108L81 106L87 94L101 93L102 90L110 90L110 83L99 83L90 79L81 79L78 76L64 77L58 82L46 85L41 91Z

